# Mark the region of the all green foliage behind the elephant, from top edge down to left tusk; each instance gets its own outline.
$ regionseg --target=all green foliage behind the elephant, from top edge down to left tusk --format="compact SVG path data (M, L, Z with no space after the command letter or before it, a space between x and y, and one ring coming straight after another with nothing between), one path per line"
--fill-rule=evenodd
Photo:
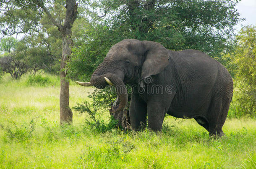
M238 0L84 0L92 6L73 28L78 36L69 76L88 81L112 45L125 38L152 40L171 50L197 49L222 62L240 20ZM106 15L99 18L95 13ZM96 15L96 16L95 16ZM80 37L79 37L80 36Z

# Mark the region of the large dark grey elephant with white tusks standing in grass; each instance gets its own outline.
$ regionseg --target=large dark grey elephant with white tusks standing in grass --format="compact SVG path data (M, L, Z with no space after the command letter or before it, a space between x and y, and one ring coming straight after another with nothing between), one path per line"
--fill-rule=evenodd
M218 61L198 50L168 50L160 43L125 39L110 48L104 61L81 86L104 88L115 86L125 108L132 86L129 116L131 128L146 124L161 131L165 114L176 118L193 118L209 135L225 135L222 126L232 100L233 81Z

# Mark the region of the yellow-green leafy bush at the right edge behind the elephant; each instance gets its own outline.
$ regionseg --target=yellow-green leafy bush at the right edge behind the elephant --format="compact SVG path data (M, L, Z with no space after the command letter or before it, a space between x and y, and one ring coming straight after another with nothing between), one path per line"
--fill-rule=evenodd
M235 64L234 97L235 116L256 117L256 26L242 28L236 36L238 45L229 54Z

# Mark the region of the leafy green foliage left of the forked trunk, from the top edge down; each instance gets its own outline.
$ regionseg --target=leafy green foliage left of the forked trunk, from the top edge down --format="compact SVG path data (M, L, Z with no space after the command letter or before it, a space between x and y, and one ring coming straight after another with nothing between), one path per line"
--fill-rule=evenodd
M26 33L19 43L26 47L32 71L44 69L49 73L57 73L60 71L62 36L37 3L37 0L8 0L0 3L0 30L3 35L9 36L6 39L13 38L10 37L13 34ZM50 14L63 24L65 2L47 0L42 3L47 3Z

